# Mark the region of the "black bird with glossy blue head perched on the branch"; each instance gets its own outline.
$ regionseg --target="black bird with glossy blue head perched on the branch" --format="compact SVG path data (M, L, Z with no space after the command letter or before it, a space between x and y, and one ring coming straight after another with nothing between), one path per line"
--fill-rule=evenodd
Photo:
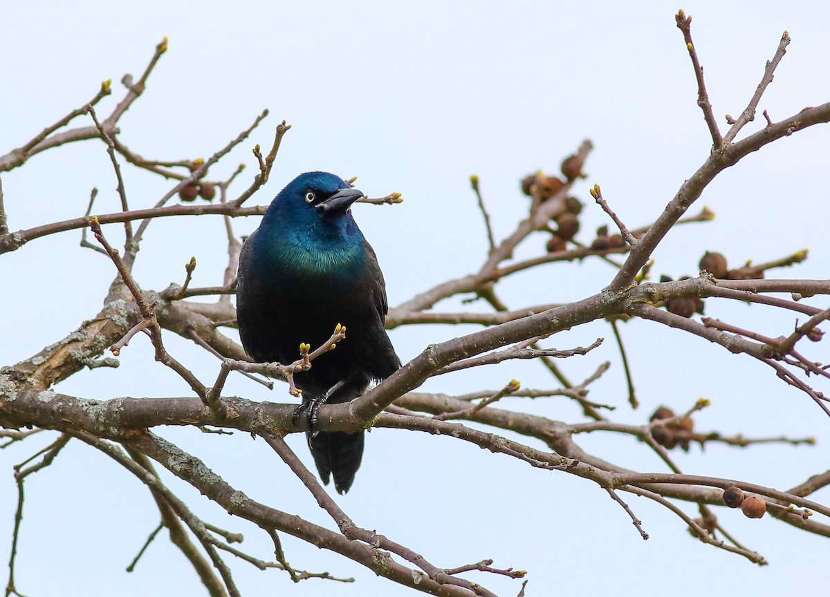
M320 478L349 491L364 451L364 432L315 429L317 410L361 396L401 366L386 333L386 284L378 258L352 216L364 197L329 172L305 172L277 194L247 237L237 269L237 322L242 347L256 362L288 364L300 343L321 346L340 324L336 350L295 373L306 437Z

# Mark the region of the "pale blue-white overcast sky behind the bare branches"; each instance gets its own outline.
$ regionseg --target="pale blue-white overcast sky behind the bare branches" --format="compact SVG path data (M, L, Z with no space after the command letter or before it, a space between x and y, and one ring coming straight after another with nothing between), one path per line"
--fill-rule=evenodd
M724 114L744 109L784 29L793 41L760 109L779 120L830 100L830 8L817 2L753 2L751 8L746 2L688 2L684 8L694 17L693 36L723 126ZM98 109L107 114L122 96L122 75L139 75L154 46L168 36L169 50L147 90L120 121L122 142L145 158L207 158L270 109L261 129L212 168L210 177L226 178L241 162L252 166L253 144L270 144L274 127L286 119L293 128L271 181L252 201L269 201L297 173L315 169L357 175L358 187L371 196L403 192L401 205L354 209L395 305L481 265L486 234L469 189L471 174L481 177L502 238L525 216L520 178L538 169L555 172L564 156L590 138L595 150L585 167L589 177L576 194L590 202L588 184L600 183L632 227L662 212L710 147L675 11L666 2L3 2L0 153L80 107L111 78L115 93ZM759 118L745 131L762 124ZM696 274L705 250L720 250L740 265L808 248L803 265L772 275L827 278L828 140L830 128L813 127L724 172L691 210L709 206L715 221L672 231L655 254L657 275ZM247 186L252 169L237 192ZM147 172L124 172L131 206L150 206L169 188ZM91 187L100 189L96 211L118 209L109 158L98 142L40 154L4 173L2 183L12 230L81 216ZM598 207L587 206L580 238L589 242L603 223L610 222ZM237 235L257 224L254 218L234 222ZM118 234L117 226L110 229ZM144 289L162 289L182 281L183 265L195 255L194 283L219 284L227 250L223 234L218 217L156 221L135 276ZM30 357L100 308L115 270L101 255L78 247L79 238L78 231L42 238L0 258L0 365ZM531 238L517 256L539 254L544 241L543 235ZM502 294L513 308L564 302L602 289L612 274L599 261L549 265L535 276L511 279ZM828 304L821 298L812 302ZM448 301L443 308L459 305ZM772 336L788 333L794 323L757 305L710 300L706 313ZM407 361L430 342L473 329L427 326L396 330L391 337ZM676 454L684 471L786 490L826 469L830 420L770 370L656 324L635 321L622 331L642 402L636 411L625 402L622 366L607 326L585 326L550 343L567 348L608 338L602 348L563 366L580 379L611 360L611 371L593 386L591 398L618 405L619 420L642 423L657 405L680 411L705 396L713 405L696 419L702 430L819 440L813 448L710 446L702 453L693 447L690 454ZM166 337L169 349L198 375L215 375L212 357L172 334ZM830 362L827 347L819 348L813 357ZM154 362L144 337L135 338L120 361L117 370L86 371L57 390L102 400L188 394L183 381ZM514 377L526 387L554 384L539 364L510 362L424 387L461 393L498 388ZM289 397L285 386L268 392L240 376L232 377L227 391L251 400ZM504 405L579 420L574 406L560 398ZM251 498L332 527L261 441L198 430L159 434L203 457ZM303 438L290 439L310 464ZM12 464L47 441L31 439L0 452L0 561L7 561L12 537ZM630 438L593 434L579 441L621 466L664 470ZM270 559L269 540L256 527L223 516L178 480L171 479L170 487L207 522L245 533L244 550ZM830 502L830 493L814 498ZM497 566L529 570L527 595L826 590L826 538L769 516L750 521L718 509L725 527L770 562L758 568L692 540L680 519L662 508L633 497L627 501L649 541L593 483L530 469L470 444L389 430L367 437L354 488L338 498L357 524L436 565L494 558ZM695 512L689 504L681 507ZM125 573L158 518L149 492L129 473L71 443L51 468L27 480L17 587L27 595L67 597L200 594L192 568L166 537L157 538L132 575ZM292 565L357 582L292 585L284 573L231 561L243 595L411 594L330 552L291 538L285 546ZM499 595L519 591L518 581L468 576Z

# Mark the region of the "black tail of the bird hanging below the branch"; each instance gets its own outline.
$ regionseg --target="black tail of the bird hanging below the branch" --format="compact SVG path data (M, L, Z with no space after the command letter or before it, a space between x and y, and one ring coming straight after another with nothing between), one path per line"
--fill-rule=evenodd
M328 485L329 476L334 475L337 493L348 492L363 459L364 432L308 431L306 437L323 483Z

